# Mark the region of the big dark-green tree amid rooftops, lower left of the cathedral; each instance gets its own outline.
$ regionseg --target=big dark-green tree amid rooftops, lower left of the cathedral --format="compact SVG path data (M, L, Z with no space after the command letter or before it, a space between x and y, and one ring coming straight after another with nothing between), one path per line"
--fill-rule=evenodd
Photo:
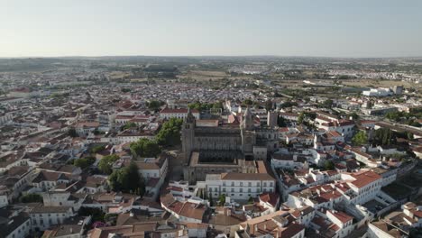
M135 193L140 196L145 193L145 182L134 162L128 167L113 171L108 177L108 183L115 192Z

